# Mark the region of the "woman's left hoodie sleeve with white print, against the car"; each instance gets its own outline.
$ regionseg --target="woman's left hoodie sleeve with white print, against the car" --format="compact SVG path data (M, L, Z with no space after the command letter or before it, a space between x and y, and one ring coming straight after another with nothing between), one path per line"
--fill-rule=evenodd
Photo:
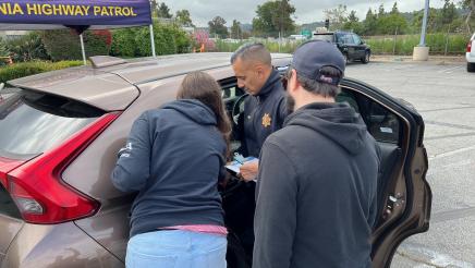
M143 113L132 125L125 147L112 171L113 185L122 192L141 191L150 175L151 141L147 113Z

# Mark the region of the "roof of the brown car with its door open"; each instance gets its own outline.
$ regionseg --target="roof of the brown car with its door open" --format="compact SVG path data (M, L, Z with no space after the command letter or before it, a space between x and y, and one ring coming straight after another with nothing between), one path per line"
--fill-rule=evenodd
M273 60L290 57L272 53ZM231 53L221 52L142 58L103 68L70 68L13 80L9 84L75 99L106 111L124 110L138 97L139 84L193 71L231 68L230 58ZM117 62L117 58L112 59Z

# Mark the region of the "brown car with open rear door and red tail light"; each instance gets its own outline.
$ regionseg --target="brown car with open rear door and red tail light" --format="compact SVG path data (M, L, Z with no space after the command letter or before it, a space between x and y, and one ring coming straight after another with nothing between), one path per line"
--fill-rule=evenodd
M230 57L93 57L92 66L10 81L16 90L0 103L0 267L123 267L134 195L111 183L118 150L133 121L173 100L191 71L206 71L220 83L238 127L247 94L238 87ZM281 72L291 62L290 54L272 58ZM352 78L342 82L338 101L362 114L381 148L373 263L389 267L398 245L429 227L424 121L413 107ZM240 146L234 138L232 149ZM252 209L241 206L247 186L234 180L220 190L229 267L249 267L246 251L232 239L253 228L240 215Z

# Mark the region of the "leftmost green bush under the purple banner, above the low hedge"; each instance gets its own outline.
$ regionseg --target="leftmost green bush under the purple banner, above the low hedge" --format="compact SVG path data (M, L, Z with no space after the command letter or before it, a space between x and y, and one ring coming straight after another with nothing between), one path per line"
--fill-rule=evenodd
M49 54L38 32L31 32L19 38L5 40L5 47L14 62L49 60Z

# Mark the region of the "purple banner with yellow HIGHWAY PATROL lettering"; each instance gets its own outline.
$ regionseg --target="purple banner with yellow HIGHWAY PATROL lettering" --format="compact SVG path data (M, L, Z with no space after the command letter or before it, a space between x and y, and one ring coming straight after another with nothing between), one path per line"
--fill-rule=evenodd
M148 0L1 0L0 23L148 25Z

